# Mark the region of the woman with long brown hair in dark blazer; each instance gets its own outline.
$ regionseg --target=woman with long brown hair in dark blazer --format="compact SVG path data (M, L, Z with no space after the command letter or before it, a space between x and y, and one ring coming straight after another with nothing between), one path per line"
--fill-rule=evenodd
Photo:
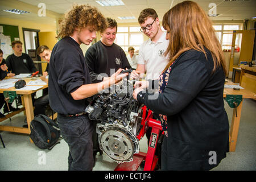
M226 65L212 22L197 3L184 1L163 17L169 64L160 75L158 96L142 90L134 98L160 116L165 134L162 170L209 170L226 157L229 123L223 90Z

